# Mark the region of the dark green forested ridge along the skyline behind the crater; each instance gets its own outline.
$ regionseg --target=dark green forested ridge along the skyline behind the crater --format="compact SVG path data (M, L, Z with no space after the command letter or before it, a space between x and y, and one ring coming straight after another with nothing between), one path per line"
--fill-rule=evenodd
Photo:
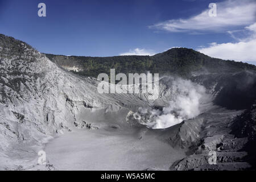
M115 68L117 73L160 73L191 77L192 72L235 73L256 71L256 66L209 57L188 48L172 48L154 56L63 56L46 54L48 59L79 75L97 77Z

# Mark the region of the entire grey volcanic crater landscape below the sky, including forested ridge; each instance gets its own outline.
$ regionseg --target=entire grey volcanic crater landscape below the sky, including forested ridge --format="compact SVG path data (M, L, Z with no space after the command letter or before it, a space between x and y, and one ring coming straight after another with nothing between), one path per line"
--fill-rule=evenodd
M159 97L98 93L91 77L110 68L162 73ZM185 48L46 56L0 34L0 86L2 170L255 169L254 65ZM39 150L46 165L37 162ZM208 163L209 151L217 164Z

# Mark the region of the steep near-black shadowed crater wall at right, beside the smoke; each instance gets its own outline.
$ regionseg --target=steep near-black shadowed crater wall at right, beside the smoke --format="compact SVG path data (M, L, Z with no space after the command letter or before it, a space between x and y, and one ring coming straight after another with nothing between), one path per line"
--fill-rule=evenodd
M256 100L256 72L253 70L199 74L192 81L204 85L216 96L214 104L230 110L250 109Z

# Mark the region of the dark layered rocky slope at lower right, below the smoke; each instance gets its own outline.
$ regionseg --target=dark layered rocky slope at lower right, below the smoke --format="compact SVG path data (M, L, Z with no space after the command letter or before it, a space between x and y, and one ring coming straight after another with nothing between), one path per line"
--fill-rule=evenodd
M177 141L184 141L181 146L189 146L188 156L172 164L171 169L255 170L255 106L244 113L229 112L217 109L180 125L179 132L171 135L170 143L176 146ZM209 151L216 151L217 164L209 164Z

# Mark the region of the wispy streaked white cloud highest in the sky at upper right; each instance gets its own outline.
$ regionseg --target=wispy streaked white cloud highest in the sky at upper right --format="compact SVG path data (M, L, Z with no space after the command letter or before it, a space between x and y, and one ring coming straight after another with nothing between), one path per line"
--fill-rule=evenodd
M210 17L209 9L188 19L171 19L150 26L170 32L222 32L255 22L256 1L224 1L217 4L217 16Z

